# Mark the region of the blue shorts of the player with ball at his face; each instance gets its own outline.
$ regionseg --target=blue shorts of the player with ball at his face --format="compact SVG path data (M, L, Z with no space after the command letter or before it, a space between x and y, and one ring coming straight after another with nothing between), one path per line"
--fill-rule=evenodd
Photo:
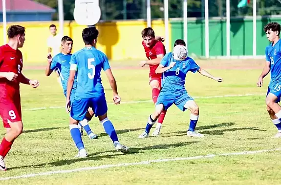
M167 110L172 104L175 104L180 110L185 111L184 107L185 103L189 100L193 100L191 96L187 92L181 93L171 93L167 91L160 91L158 96L157 104L163 104L164 109Z

